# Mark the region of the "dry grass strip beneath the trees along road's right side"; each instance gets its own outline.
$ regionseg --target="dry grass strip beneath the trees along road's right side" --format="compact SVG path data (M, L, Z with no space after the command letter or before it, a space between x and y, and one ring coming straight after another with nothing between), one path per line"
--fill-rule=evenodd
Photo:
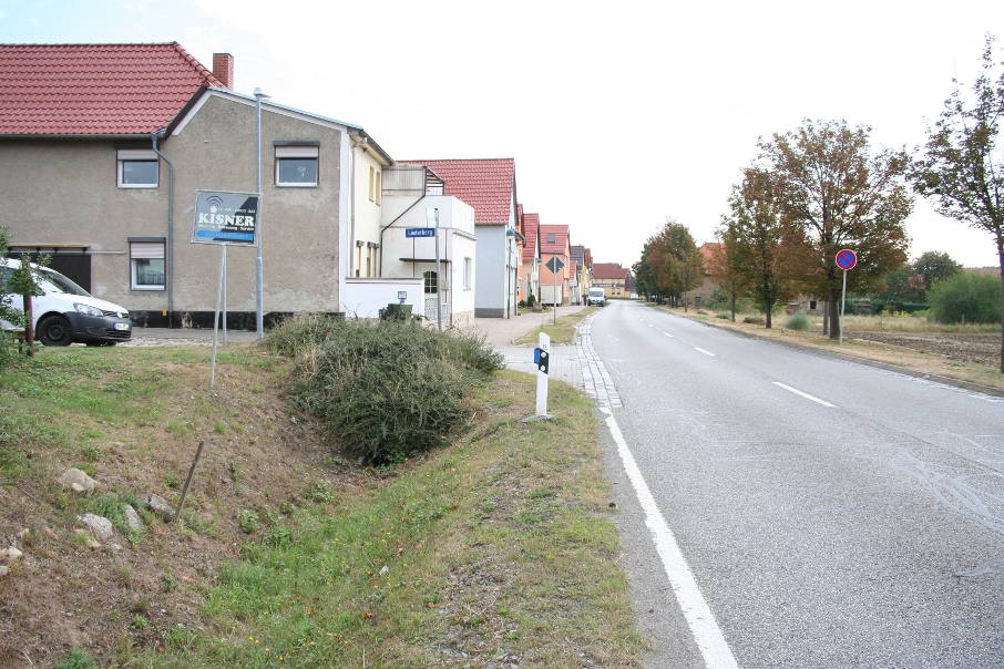
M953 360L940 353L924 352L903 346L864 341L853 337L846 338L842 343L838 343L836 340L822 334L822 317L808 317L809 328L807 330L792 330L785 327L788 316L780 313L775 316L774 327L768 330L762 325L742 322L745 317L762 319L764 315L760 312L737 313L736 322L732 322L727 318L720 318L718 312L711 313L700 309L690 309L685 312L680 308L665 306L658 308L715 327L737 330L755 337L834 351L862 358L864 360L873 360L902 367L925 374L936 374L960 381L1004 389L1004 374L1001 374L1001 371L992 366ZM994 332L1000 332L1001 329L1000 327L984 325L944 326L931 322L926 318L910 316L846 316L844 331L849 333L861 331L912 333L918 336L936 336L939 333L944 333L952 336L992 334Z

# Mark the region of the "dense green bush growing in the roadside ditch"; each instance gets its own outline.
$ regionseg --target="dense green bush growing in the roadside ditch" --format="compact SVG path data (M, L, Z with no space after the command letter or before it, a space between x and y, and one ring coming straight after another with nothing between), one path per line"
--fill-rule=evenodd
M443 444L469 416L473 388L502 362L481 338L399 321L294 319L267 343L295 358L294 404L373 464Z

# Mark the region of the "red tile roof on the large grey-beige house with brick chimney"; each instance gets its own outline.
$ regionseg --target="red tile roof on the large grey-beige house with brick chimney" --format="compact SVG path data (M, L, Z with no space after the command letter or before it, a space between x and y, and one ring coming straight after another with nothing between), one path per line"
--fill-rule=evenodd
M223 84L177 42L0 44L0 134L148 134L202 86Z

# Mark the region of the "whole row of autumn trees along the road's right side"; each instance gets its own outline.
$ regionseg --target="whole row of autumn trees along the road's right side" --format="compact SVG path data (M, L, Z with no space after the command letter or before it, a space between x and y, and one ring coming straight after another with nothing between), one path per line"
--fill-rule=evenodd
M707 269L734 309L737 297L756 299L768 328L775 305L797 295L824 300L827 333L838 339L840 249L859 257L847 272L849 294L909 294L912 287L918 296L957 271L944 254L906 264L905 219L914 194L943 216L990 233L1004 267L1004 154L997 147L1004 62L994 61L993 44L987 37L972 95L954 82L915 157L872 146L871 127L843 120L807 119L795 131L761 140L731 188L708 267L686 226L667 220L634 266L638 292L676 303ZM1000 284L1004 317L1004 272ZM1001 352L1004 372L1004 332Z

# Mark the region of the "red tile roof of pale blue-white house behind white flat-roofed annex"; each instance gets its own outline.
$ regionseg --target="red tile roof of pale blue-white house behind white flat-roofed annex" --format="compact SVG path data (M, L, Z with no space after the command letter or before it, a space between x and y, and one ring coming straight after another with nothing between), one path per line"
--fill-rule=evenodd
M474 207L478 225L505 225L512 212L512 189L516 174L513 158L444 161L398 161L428 165L442 177L445 195L455 195Z

